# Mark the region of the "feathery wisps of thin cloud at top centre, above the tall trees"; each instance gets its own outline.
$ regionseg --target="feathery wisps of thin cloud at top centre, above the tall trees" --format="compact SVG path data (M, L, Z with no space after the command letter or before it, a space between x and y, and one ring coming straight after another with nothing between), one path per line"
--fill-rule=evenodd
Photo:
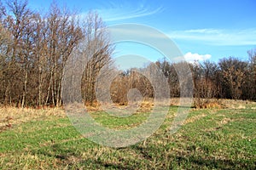
M157 14L162 12L164 8L162 6L150 7L147 2L134 3L131 1L125 4L109 3L109 7L97 8L96 10L105 21L117 21Z

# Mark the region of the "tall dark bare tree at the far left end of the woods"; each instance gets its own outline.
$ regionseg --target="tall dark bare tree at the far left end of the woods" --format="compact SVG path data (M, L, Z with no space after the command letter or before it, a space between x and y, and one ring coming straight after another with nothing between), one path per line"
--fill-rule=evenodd
M7 6L9 11L6 13L4 24L11 33L13 43L9 46L11 56L8 72L10 74L8 75L9 82L5 98L9 99L10 103L15 99L21 107L24 107L27 94L27 74L30 65L29 53L32 48L32 43L30 42L32 36L32 12L27 8L26 1L9 1ZM20 86L20 84L23 85ZM13 90L12 92L11 89Z

